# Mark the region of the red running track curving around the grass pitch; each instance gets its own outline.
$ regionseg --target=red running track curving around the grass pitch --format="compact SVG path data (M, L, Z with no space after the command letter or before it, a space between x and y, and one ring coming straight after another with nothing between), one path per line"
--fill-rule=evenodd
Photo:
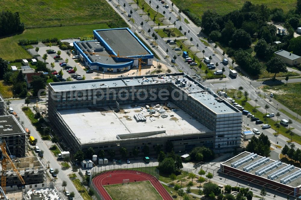
M137 174L137 172L139 174ZM104 185L120 184L124 179L129 179L129 182L150 181L154 188L159 192L164 200L172 200L166 189L160 181L152 176L141 171L135 170L114 170L101 173L92 179L92 183L97 187L105 200L112 200L108 192L104 189Z

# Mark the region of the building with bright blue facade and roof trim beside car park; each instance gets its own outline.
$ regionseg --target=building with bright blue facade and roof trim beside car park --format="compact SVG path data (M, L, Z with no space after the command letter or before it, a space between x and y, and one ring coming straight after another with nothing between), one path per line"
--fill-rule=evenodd
M124 72L153 65L154 55L128 28L93 30L94 40L73 42L81 62L90 69ZM118 57L117 57L118 56Z

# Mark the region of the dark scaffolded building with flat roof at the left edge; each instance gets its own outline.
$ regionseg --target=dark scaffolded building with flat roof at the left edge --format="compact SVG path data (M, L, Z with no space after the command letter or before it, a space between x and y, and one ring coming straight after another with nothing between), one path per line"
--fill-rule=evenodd
M11 157L24 157L26 132L13 115L0 116L0 140L4 140Z

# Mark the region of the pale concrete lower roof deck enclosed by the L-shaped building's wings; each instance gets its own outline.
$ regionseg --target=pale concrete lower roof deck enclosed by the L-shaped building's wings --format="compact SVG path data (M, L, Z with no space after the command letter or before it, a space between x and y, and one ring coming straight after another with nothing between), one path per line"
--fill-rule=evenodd
M152 107L156 103L146 105ZM202 123L171 102L167 103L167 107L172 108L172 110L166 110L166 115L168 115L166 118L160 117L157 111L153 115L157 114L158 117L150 117L145 107L142 111L140 110L141 106L120 105L119 112L115 112L111 107L106 106L59 110L58 113L81 144L117 141L119 138L135 138L138 136L159 137L210 131ZM146 122L137 122L134 119L135 114L144 115ZM173 115L173 117L170 115Z

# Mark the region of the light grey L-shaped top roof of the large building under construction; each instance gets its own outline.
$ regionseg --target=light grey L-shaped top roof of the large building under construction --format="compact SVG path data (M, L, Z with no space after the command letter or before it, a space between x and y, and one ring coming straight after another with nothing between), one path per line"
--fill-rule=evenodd
M196 81L188 80L186 74L165 74L165 83L172 83L178 86L179 89L184 90L191 97L195 98L201 104L205 105L207 108L215 112L216 114L228 114L228 113L237 113L241 115L241 112L238 111L234 106L230 105L227 102L218 102L216 97L213 96L213 92L208 92L204 90L205 87L201 86L200 83ZM66 82L57 82L49 83L50 87L54 89L55 92L64 92L64 91L76 91L83 89L98 89L98 88L110 88L114 87L125 87L125 86L138 86L145 84L158 84L157 75L148 75L138 76L138 77L118 77L110 79L95 79L95 80L80 80L80 81L66 81ZM188 80L185 87L179 87L180 85L176 82L176 79L179 79L181 82ZM191 86L189 86L191 84ZM119 102L120 103L120 102ZM122 104L122 102L121 102Z

